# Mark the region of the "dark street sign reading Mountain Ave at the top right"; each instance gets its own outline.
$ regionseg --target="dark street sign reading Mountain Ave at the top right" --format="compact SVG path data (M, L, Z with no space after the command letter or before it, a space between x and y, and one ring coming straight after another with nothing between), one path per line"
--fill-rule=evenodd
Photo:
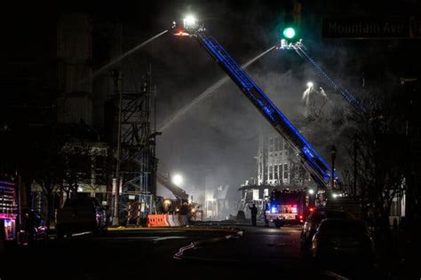
M323 38L393 39L421 37L421 19L345 17L322 20Z

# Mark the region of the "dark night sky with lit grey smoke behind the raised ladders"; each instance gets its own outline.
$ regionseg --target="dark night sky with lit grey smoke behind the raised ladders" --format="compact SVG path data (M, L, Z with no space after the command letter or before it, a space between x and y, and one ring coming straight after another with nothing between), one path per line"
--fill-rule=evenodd
M332 40L323 39L321 35L323 17L338 14L407 15L401 13L401 7L408 6L414 8L407 9L407 13L419 14L416 1L393 4L301 2L302 37L309 53L356 97L364 98L367 94L361 88L362 78L370 86L386 87L388 82L397 83L401 76L419 75L420 58L413 56L416 52L411 52L417 50L419 40ZM30 61L37 67L48 68L55 58L56 21L62 13L91 14L93 70L113 58L113 54L104 49L113 44L108 39L115 34L117 23L122 24L124 51L171 27L172 20L182 19L187 12L192 12L203 20L208 34L242 64L279 42L283 19L282 1L154 1L148 4L139 1L136 4L115 2L114 5L68 2L54 7L30 4L24 8L19 5L2 10L1 60L6 62L0 72L4 84L2 105L23 102L48 105L43 103L45 90L30 91L27 87L42 88L39 83L52 79L52 75L45 74L48 71L39 71L32 74L34 81L16 87L13 79L19 71L11 72L7 63ZM193 38L164 35L123 60L125 88L133 89L149 65L157 89L158 128L225 75ZM343 99L322 83L308 62L292 51L271 51L247 72L290 120L300 121L300 99L309 80L323 85L335 107L347 110ZM36 94L28 96L28 92ZM95 97L100 104L105 95L100 93ZM100 132L103 113L100 110L93 113L96 120L93 129ZM187 191L194 186L203 186L204 175L214 175L217 184L239 186L256 173L253 157L257 154L261 128L268 128L266 121L242 97L234 83L227 82L163 131L157 143L158 168L163 173L185 175ZM326 136L323 135L324 129L329 130L323 126L307 128L310 130L309 141L326 158L329 156L328 147L336 144L339 147L338 165L341 162L345 165L345 157L341 158L345 153L343 131L338 129L338 135ZM341 167L338 168L341 171Z

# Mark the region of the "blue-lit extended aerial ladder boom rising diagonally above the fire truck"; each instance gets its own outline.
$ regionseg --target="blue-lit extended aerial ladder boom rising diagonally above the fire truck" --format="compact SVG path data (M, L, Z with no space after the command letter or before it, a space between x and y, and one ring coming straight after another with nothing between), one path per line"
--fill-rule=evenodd
M242 93L298 152L301 163L313 177L314 182L320 187L326 187L330 183L332 170L322 156L314 150L313 146L306 141L306 138L299 133L298 129L272 103L265 92L250 79L249 75L238 66L234 58L214 38L206 35L204 32L197 32L194 35L211 57L215 58L226 74L242 89ZM339 182L336 174L335 180Z

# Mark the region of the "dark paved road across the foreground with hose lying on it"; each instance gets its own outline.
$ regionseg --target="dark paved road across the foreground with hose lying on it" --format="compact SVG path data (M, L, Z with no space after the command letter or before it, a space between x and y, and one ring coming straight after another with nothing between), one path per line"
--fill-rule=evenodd
M241 227L241 230L242 236L209 229L117 230L109 231L106 237L85 235L52 240L41 248L15 251L2 263L0 278L140 279L142 275L196 280L205 276L338 278L314 268L301 253L298 228ZM182 254L180 248L185 249ZM175 253L179 253L178 259L174 259ZM28 273L33 276L24 277Z

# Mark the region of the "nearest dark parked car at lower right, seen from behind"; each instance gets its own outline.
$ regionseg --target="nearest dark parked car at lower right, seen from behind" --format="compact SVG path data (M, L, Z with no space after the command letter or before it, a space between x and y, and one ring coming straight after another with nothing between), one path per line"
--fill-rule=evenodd
M360 220L325 219L314 234L311 253L317 261L350 259L352 263L370 266L374 261L374 243Z

